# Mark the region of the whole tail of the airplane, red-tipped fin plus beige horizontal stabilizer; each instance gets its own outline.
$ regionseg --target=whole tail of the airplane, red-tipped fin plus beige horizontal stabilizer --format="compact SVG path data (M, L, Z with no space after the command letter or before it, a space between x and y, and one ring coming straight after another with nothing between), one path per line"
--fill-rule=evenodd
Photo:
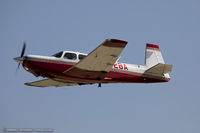
M166 77L169 77L168 73L172 70L172 64L165 64L159 46L149 43L146 45L145 66L147 67L146 73L165 75Z

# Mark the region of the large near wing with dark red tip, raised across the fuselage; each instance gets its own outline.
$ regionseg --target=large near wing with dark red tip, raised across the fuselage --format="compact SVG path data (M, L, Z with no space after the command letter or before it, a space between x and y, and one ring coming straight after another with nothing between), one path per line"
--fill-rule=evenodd
M88 56L64 73L79 78L103 79L112 69L126 44L126 41L106 39Z

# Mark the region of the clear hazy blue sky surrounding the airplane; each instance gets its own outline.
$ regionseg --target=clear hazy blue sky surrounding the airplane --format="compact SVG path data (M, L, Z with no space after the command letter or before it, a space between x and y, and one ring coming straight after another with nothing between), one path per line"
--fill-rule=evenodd
M55 133L199 133L199 0L0 0L0 130ZM173 64L168 83L38 88L14 57L89 53L128 41L120 62L144 64L145 44Z

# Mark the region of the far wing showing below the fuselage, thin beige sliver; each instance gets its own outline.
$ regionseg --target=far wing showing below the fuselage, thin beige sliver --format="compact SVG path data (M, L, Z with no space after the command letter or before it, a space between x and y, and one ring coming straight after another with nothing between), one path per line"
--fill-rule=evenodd
M35 87L50 87L50 86L62 87L62 86L75 86L75 85L81 85L81 84L65 83L65 82L55 81L52 79L44 79L44 80L38 80L31 83L25 83L25 85L35 86Z

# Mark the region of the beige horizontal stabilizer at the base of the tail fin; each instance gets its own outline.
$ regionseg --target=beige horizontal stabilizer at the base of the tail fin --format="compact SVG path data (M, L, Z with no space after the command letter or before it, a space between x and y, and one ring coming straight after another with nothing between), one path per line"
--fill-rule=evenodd
M165 74L172 71L172 64L162 64L158 63L153 67L147 69L145 73L154 73L154 74Z

